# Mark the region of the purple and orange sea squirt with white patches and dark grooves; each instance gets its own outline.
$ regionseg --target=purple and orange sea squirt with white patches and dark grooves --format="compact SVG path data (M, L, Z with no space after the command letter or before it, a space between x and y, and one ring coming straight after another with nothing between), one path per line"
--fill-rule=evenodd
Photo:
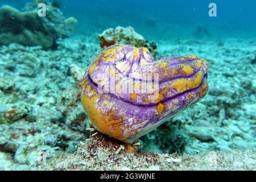
M110 46L85 73L82 105L92 127L131 144L203 98L207 70L207 61L195 55L155 61L147 48ZM154 92L141 92L148 84Z

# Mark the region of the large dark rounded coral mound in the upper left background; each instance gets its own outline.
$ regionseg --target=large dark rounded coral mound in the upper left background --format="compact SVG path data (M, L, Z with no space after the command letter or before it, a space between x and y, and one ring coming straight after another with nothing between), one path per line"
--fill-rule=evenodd
M63 13L46 2L46 17L38 16L37 3L27 3L22 11L11 6L0 9L0 44L19 43L23 46L57 46L57 40L69 36L77 20L65 20Z

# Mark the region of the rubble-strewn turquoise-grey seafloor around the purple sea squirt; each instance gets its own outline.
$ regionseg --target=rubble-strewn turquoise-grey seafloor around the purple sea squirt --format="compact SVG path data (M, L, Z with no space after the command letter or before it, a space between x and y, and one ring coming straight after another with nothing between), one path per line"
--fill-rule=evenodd
M55 51L0 48L0 114L11 118L0 122L0 170L255 170L255 39L159 40L159 57L209 61L209 92L142 137L134 154L85 130L75 80L100 51L92 39L72 36Z

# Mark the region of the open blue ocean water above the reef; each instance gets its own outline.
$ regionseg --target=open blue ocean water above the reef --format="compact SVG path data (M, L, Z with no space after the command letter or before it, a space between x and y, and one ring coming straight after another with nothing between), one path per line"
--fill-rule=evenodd
M1 0L21 8L28 1ZM106 28L132 26L151 40L191 37L204 31L215 37L256 37L254 0L61 0L65 16L79 20L75 33L92 35ZM217 16L208 15L209 3L216 3Z

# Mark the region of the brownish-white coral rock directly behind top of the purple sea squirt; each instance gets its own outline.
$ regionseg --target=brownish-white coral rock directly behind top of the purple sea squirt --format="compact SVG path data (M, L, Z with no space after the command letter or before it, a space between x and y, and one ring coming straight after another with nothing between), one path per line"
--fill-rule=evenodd
M145 40L142 35L135 32L133 27L124 28L118 26L115 29L109 28L98 35L98 38L100 39L101 48L106 48L114 44L130 44L135 47L146 47L152 56L155 57L157 55L156 44Z

